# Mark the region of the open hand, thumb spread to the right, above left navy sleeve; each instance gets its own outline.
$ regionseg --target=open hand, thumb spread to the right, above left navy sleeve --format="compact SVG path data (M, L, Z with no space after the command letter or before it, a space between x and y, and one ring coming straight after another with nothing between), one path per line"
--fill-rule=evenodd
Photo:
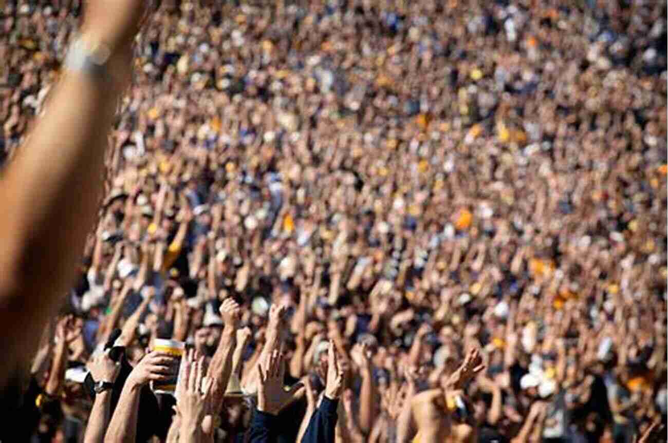
M267 361L261 363L258 369L260 384L257 393L257 408L267 414L277 415L295 398L299 390L303 390L303 385L297 383L289 391L283 389L285 364L283 364L283 354L279 354L277 350L272 352Z

